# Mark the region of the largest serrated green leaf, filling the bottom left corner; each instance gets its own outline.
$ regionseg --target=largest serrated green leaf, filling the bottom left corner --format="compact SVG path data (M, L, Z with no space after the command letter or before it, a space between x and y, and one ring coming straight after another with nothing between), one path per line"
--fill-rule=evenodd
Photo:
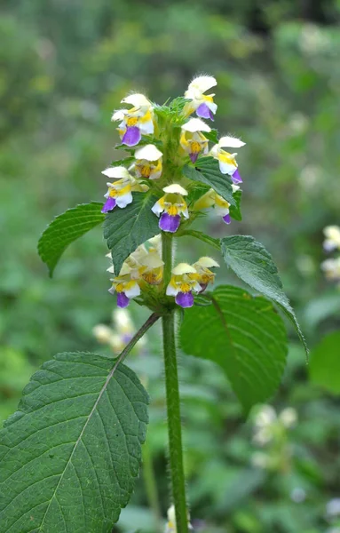
M0 434L0 533L110 533L138 476L147 402L112 359L45 362Z

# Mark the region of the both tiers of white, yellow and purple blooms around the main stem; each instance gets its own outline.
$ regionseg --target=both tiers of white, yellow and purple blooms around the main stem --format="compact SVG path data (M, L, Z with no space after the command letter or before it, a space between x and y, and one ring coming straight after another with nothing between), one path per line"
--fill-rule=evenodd
M231 223L227 200L213 187L202 183L197 187L198 182L184 171L185 166L198 165L199 158L209 156L211 162L218 162L217 172L219 168L221 179L232 184L233 193L240 188L237 154L227 149L243 147L245 143L230 135L217 140L217 132L211 131L203 120L213 121L217 112L215 95L206 94L216 85L212 76L197 76L184 97L173 100L177 103L170 103L169 107L157 106L139 93L122 100L125 107L116 110L112 120L118 122L117 131L130 157L126 165L123 162L102 172L109 179L102 212L124 209L133 202L134 193L148 195L150 192L150 196L158 198L150 206L150 216L159 219L158 226L166 234L184 231L200 211L211 208L225 224ZM210 139L215 139L212 147ZM196 174L200 176L197 170L198 166ZM223 190L222 187L222 194ZM202 292L214 281L215 274L210 269L218 265L210 258L201 258L194 265L180 263L173 268L170 282L167 280L166 284L164 267L160 235L154 237L154 242L138 246L124 261L120 272L109 267L108 271L114 274L110 292L117 295L117 305L126 307L130 298L153 293L175 298L178 306L191 307L194 293ZM144 303L147 305L145 299Z

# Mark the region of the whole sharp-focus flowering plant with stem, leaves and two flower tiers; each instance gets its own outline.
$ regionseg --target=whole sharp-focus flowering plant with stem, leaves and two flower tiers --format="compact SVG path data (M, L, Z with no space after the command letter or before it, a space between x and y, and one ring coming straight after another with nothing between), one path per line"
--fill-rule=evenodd
M265 247L249 235L217 239L193 229L210 209L225 224L241 219L241 173L228 149L245 143L211 128L217 104L206 92L216 85L198 76L163 106L139 93L124 98L112 120L128 155L102 172L105 203L78 205L43 232L38 250L52 274L68 244L103 224L109 292L118 307L134 300L151 315L114 360L58 354L32 377L2 433L1 532L112 530L138 475L148 420L146 390L123 361L161 319L174 505L166 527L187 533L176 330L186 354L225 371L246 415L273 395L284 370L287 334L275 306L304 343ZM183 237L209 244L213 257L178 263L174 243ZM211 290L221 261L259 294Z

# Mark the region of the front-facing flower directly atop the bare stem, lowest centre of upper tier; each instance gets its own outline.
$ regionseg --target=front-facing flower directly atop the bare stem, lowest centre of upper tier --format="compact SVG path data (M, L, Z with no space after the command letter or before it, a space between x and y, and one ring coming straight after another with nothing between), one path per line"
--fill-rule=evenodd
M187 191L177 183L164 187L163 191L165 195L154 204L152 211L157 217L161 215L159 227L162 231L175 233L180 225L181 215L185 219L189 218L186 201L183 198L187 195Z

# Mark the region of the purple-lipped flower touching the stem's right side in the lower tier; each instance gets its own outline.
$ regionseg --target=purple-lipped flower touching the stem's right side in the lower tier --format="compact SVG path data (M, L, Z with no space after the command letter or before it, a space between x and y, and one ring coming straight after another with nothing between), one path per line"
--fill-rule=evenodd
M194 306L194 292L201 292L198 280L200 275L196 269L187 263L179 263L172 269L170 283L166 289L167 296L174 296L178 306Z

